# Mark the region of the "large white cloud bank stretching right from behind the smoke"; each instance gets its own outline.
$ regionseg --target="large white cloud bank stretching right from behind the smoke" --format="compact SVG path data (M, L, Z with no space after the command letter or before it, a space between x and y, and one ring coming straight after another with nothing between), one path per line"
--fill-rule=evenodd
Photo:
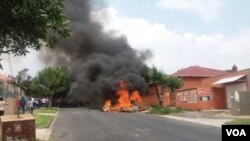
M152 50L151 63L167 73L191 65L225 70L236 64L239 69L249 68L250 30L246 28L230 38L223 33L176 33L162 23L121 17L114 8L93 12L92 17L102 21L103 13L112 17L102 22L106 32L116 30L116 35L126 35L134 48Z

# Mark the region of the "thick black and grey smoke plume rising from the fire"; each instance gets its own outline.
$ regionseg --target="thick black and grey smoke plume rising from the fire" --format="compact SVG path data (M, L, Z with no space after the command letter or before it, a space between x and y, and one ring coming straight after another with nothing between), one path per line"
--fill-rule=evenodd
M48 60L53 58L56 65L70 69L69 96L102 103L115 97L116 83L121 79L128 82L130 90L143 93L146 84L139 73L149 52L139 53L125 37L104 33L102 25L91 20L90 0L67 0L65 8L72 35L59 42Z

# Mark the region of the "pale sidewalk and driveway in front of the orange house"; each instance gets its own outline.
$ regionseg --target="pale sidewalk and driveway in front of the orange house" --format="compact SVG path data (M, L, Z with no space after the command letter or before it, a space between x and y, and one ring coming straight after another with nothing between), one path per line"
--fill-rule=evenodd
M239 118L250 118L250 115L232 116L229 111L211 110L211 111L200 111L200 112L185 111L183 113L176 114L176 115L160 115L160 117L220 128L226 122L239 119Z

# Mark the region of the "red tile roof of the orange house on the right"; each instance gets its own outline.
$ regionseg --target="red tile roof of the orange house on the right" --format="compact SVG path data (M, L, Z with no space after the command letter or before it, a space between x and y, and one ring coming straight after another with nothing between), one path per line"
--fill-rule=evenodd
M178 70L176 73L172 74L172 76L179 77L213 77L222 74L226 74L228 72L222 70L216 70L211 68L205 68L200 66L191 66L185 69Z

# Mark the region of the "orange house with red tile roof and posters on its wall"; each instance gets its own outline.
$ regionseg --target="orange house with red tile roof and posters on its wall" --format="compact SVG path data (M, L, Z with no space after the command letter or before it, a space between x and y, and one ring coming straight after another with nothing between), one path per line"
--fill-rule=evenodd
M183 79L175 104L184 109L230 109L233 93L250 89L250 69L237 71L235 66L227 71L191 66L172 76Z

